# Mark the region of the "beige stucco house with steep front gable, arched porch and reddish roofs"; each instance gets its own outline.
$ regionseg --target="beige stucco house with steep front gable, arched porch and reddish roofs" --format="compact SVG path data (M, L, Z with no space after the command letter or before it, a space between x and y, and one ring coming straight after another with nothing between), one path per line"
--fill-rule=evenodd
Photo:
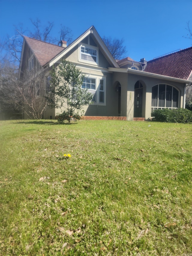
M70 45L65 41L61 44L56 46L24 37L19 77L26 68L38 71L41 67L46 86L52 65L60 63L62 58L73 62L85 74L82 88L93 94L94 103L84 107L85 118L144 120L151 117L154 109L185 106L185 88L192 83L192 50L186 49L186 56L178 52L173 60L166 56L149 62L145 59L135 62L129 57L115 60L94 26ZM48 109L43 118L54 119L59 112Z

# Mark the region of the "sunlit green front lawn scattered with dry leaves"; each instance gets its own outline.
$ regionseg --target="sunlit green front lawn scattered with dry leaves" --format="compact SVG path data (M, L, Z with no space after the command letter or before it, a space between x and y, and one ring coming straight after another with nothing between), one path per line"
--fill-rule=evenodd
M191 132L0 121L0 255L191 255Z

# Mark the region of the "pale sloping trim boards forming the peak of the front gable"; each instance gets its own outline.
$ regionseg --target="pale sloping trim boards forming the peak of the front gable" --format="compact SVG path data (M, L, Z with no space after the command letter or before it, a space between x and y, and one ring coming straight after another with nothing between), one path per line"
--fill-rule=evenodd
M53 59L50 61L49 66L51 67L54 63L56 63L59 59L61 59L65 54L67 54L70 50L72 50L73 47L78 45L85 37L87 37L90 34L94 37L95 41L100 46L99 50L101 50L101 52L104 54L104 56L108 60L108 62L112 66L119 68L119 65L117 64L116 60L111 55L109 49L104 44L104 41L101 39L100 35L98 34L98 32L94 26L91 26L89 29L87 29L82 35L80 35L76 40L74 40L70 45L68 45L67 48L65 48L63 50L63 52L58 53L56 56L54 56Z

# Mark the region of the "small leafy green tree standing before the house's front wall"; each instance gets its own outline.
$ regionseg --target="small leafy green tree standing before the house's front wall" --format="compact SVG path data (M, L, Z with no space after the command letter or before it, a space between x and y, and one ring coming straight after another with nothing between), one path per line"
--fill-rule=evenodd
M55 93L52 105L66 109L58 116L58 121L67 119L70 123L71 118L75 121L80 119L82 107L90 104L93 98L90 92L81 88L82 72L72 62L63 59L57 67L52 68L51 77L51 89Z

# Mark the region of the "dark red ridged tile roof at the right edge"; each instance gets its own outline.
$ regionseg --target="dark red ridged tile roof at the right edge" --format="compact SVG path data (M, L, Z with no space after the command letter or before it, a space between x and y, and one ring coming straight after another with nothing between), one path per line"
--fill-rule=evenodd
M192 74L192 47L150 60L144 71L187 80Z

